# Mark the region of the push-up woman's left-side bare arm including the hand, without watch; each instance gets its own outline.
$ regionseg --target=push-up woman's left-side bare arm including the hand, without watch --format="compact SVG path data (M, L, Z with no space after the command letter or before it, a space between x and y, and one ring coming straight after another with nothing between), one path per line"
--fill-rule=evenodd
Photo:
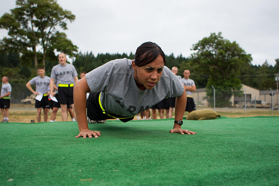
M87 118L86 118L86 93L89 92L89 86L87 84L86 78L79 80L74 86L74 106L75 114L77 117L77 124L79 126L79 134L76 136L86 138L88 135L89 138L92 138L92 135L97 138L101 136L99 131L89 130Z

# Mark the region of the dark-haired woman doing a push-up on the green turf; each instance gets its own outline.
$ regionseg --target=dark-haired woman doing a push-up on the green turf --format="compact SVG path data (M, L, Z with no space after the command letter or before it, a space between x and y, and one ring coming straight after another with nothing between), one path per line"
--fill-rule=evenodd
M99 131L88 128L86 93L89 95L87 116L91 120L119 118L130 121L166 97L177 97L176 115L170 133L195 134L182 130L186 92L179 79L164 65L161 47L146 42L138 47L135 59L116 59L85 75L74 87L74 103L79 126L76 137L99 137Z

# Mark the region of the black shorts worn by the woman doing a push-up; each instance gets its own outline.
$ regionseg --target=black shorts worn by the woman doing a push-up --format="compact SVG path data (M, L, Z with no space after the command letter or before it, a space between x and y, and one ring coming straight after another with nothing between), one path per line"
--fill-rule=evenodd
M115 119L114 117L122 117L122 116L118 116L118 115L113 115L110 114L114 117L111 117L109 115L106 115L103 113L100 104L99 104L99 95L100 92L98 93L92 93L90 92L89 97L88 97L88 104L87 104L87 116L89 117L89 119L94 120L94 121L99 121L99 120L106 120L106 119ZM129 118L125 118L125 119L120 119L120 121L122 122L127 122L134 119L133 117L129 117Z

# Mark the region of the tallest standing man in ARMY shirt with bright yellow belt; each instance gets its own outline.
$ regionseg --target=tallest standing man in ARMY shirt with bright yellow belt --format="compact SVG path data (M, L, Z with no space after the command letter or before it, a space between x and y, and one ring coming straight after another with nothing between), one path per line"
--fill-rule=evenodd
M78 78L75 67L66 62L66 55L64 53L60 53L58 58L60 64L55 65L51 70L50 95L52 97L54 96L53 86L54 81L56 80L58 82L58 97L61 107L62 121L67 121L67 105L71 105L74 110L73 86L78 82Z

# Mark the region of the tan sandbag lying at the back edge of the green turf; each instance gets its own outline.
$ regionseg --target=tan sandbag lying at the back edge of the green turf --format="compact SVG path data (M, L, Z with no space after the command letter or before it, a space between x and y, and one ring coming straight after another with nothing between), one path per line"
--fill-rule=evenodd
M188 114L187 120L205 120L205 119L216 119L221 117L215 110L212 109L201 109L195 110Z

